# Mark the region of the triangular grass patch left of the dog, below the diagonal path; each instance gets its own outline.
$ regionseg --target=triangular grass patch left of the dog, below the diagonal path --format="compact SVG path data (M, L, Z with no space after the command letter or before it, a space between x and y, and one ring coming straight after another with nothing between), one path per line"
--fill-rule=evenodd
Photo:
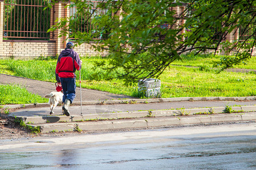
M27 104L27 103L47 103L48 99L39 95L31 94L26 88L16 84L0 84L0 104Z

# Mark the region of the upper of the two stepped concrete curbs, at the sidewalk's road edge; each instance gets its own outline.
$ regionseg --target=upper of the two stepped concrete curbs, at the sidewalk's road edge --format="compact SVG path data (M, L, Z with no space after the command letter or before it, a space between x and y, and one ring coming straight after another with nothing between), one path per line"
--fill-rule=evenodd
M233 112L255 112L256 106L230 107ZM179 109L179 110L163 110L163 111L138 111L138 112L119 112L119 113L97 113L84 114L82 116L11 116L22 118L25 124L45 124L56 122L77 122L77 121L93 121L93 120L110 120L122 118L141 118L141 117L164 117L164 116L189 116L204 115L214 113L225 113L225 107L218 108L198 108L198 109ZM243 110L245 109L245 110Z

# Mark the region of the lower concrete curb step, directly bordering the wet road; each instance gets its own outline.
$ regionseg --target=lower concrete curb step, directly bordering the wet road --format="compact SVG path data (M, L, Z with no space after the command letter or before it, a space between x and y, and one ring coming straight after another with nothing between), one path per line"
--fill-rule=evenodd
M204 115L195 117L168 117L168 118L145 118L144 120L108 120L97 122L72 122L39 124L41 133L73 130L113 130L113 129L147 129L147 128L167 128L172 126L214 124L220 122L256 121L255 113L246 114L224 114L224 115ZM34 125L32 125L34 126Z

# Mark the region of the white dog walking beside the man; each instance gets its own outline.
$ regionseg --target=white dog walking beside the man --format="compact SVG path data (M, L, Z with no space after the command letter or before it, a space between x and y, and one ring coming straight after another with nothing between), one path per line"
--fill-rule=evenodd
M57 106L57 104L62 104L62 97L63 92L53 91L49 95L44 96L49 98L49 105L50 105L50 114L54 114L53 109Z

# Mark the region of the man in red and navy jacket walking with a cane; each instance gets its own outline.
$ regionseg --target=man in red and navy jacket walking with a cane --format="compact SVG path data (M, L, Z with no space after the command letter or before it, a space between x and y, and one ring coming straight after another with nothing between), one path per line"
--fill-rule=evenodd
M63 113L69 116L69 105L76 97L76 70L81 69L79 54L73 50L74 44L67 43L67 47L60 53L55 70L56 80L63 88Z

